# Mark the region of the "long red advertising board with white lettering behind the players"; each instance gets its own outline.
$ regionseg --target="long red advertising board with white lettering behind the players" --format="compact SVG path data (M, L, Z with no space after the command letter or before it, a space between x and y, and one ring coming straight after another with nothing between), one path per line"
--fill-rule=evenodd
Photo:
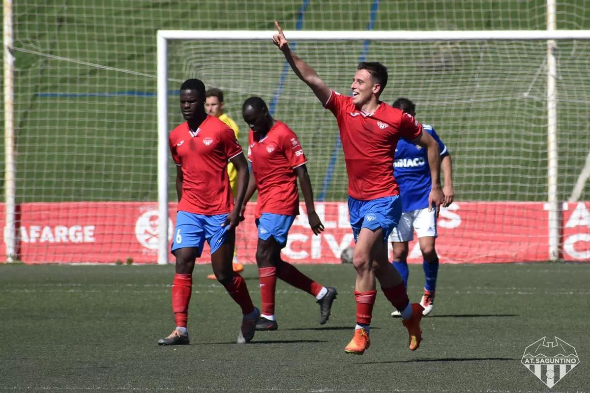
M457 202L442 209L437 251L444 263L542 261L549 257L548 213L536 202ZM169 240L176 204L170 205ZM285 260L340 263L354 246L343 202L316 203L326 230L314 236L304 206L291 227ZM240 262L254 263L257 232L254 204L237 229ZM1 220L4 206L0 205ZM25 263L156 263L158 206L140 202L25 203L18 209L18 256ZM0 221L2 227L4 222ZM590 260L590 202L563 206L563 259ZM4 246L0 258L5 258ZM170 256L173 261L173 256ZM421 262L416 239L409 262ZM208 263L208 247L198 262Z

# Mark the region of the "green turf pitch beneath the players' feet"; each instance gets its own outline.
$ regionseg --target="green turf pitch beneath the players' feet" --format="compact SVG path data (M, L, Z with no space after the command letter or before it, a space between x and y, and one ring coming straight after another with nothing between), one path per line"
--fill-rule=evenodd
M279 282L275 332L234 344L240 310L199 265L191 345L160 347L173 327L173 266L0 265L0 392L548 392L520 359L543 336L580 364L551 392L587 392L590 265L442 265L424 341L378 294L371 348L346 355L355 303L351 265L299 266L339 296L326 325L312 296ZM244 272L260 304L257 272ZM417 299L423 275L411 266Z

